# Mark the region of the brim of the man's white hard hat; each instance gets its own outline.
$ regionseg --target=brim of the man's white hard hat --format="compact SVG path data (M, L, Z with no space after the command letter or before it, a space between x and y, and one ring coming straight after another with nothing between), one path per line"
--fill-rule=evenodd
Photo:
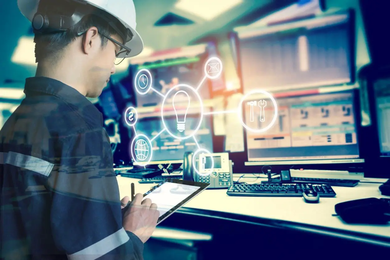
M18 7L19 7L20 12L30 22L32 22L32 19L34 18L34 15L37 12L38 4L39 4L39 0L18 0ZM99 9L101 9L101 7L94 5L93 3L90 3L90 5L93 5ZM129 26L127 23L125 23L122 19L116 17L115 14L108 12L108 11L106 11L106 12L108 14L111 14L115 18L117 18L124 25L124 27L129 28L129 30L133 34L133 39L131 39L131 41L129 41L129 42L126 42L126 44L124 44L127 48L129 48L131 50L129 55L126 58L135 57L138 54L140 54L142 52L142 50L144 50L144 42L142 41L142 38L141 38L140 34L138 34L137 30L133 29L131 26ZM125 53L123 54L122 57L121 57L121 55L119 55L118 58L123 58L124 55L125 55Z

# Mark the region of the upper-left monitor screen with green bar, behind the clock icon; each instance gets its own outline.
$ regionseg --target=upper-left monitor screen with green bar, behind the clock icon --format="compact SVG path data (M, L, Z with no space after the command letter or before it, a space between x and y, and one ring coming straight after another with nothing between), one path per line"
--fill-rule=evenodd
M135 73L140 69L148 69L153 79L152 87L165 95L170 88L179 84L187 84L196 89L204 78L204 62L206 59L201 57L160 60L147 65L136 65ZM204 81L199 89L203 100L210 98L207 83L207 80ZM158 106L163 101L160 94L152 90L145 95L136 92L136 99L137 107Z

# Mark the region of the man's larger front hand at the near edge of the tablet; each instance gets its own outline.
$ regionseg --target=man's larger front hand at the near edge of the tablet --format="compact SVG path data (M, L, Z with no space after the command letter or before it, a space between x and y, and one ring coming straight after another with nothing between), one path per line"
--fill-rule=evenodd
M124 213L123 228L137 235L145 243L156 229L160 212L155 203L152 203L149 198L142 200L143 197L144 195L141 193L135 195L134 200Z

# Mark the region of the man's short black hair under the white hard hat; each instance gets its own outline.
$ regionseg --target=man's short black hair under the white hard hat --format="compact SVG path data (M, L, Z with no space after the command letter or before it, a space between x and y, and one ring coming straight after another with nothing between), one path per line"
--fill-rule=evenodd
M51 0L52 1L52 0ZM41 0L39 2L38 9L42 8L42 5L46 1ZM64 5L64 8L69 6L70 2L61 2L61 0L56 0L56 5ZM73 3L77 5L76 3ZM35 34L35 62L41 62L44 59L50 59L51 61L57 60L60 58L62 51L66 46L71 44L77 39L77 34L80 32L85 32L91 27L96 27L101 38L101 46L105 48L108 43L108 39L102 35L111 36L117 34L117 32L108 25L108 22L104 19L96 16L94 14L87 14L73 27L69 28L65 32L56 32L51 34Z

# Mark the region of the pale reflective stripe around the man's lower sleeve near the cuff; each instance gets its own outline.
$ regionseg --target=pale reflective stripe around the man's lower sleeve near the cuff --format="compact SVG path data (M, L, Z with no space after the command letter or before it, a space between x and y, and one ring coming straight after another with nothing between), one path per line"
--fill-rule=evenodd
M129 241L129 236L121 228L117 232L109 235L108 237L102 239L101 241L81 250L72 255L68 255L69 260L95 260L106 253L112 251L113 249L121 246L122 244Z

